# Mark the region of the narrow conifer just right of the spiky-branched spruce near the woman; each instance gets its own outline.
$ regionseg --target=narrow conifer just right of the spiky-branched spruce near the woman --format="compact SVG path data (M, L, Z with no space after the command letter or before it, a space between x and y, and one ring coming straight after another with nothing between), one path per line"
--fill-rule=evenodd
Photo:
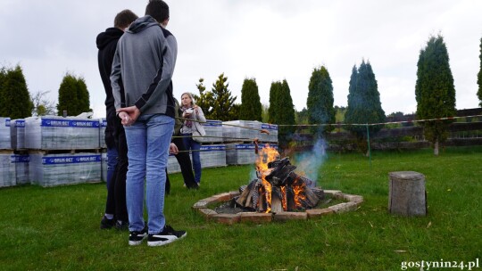
M262 104L256 79L245 78L239 110L239 119L262 121Z

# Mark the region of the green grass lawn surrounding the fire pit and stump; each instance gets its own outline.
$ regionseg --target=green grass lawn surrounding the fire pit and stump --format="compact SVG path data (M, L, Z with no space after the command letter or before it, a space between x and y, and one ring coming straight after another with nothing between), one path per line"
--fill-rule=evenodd
M171 176L168 223L187 238L163 247L129 247L128 233L100 230L105 185L0 189L2 270L400 270L402 261L482 262L482 147L330 153L325 189L360 194L352 212L317 220L225 226L191 209L200 199L237 190L253 167L206 168L199 191ZM425 175L428 216L387 212L388 173ZM415 269L413 269L415 270Z

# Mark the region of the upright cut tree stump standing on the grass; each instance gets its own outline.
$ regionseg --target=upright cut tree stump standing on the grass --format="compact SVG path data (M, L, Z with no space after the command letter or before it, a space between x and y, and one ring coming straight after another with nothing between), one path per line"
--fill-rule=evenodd
M425 176L415 171L389 173L388 210L405 217L427 215Z

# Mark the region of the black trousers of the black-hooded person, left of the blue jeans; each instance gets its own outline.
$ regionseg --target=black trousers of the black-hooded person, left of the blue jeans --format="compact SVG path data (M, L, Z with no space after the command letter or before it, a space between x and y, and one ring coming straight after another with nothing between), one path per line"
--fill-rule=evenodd
M126 133L115 112L107 117L107 125L109 125L109 122L113 124L112 136L119 156L117 157L117 166L112 174L111 185L107 191L105 213L114 214L117 220L129 221L126 202L126 178L129 165Z

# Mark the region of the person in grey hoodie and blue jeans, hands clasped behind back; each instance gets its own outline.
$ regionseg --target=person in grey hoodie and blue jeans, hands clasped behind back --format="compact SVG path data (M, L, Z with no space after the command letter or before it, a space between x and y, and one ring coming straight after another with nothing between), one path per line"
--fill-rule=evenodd
M112 93L129 149L129 245L140 244L146 235L149 246L187 235L168 226L164 217L165 169L175 116L171 78L178 55L176 38L165 29L169 19L169 6L162 0L150 0L145 16L120 37L112 63Z

